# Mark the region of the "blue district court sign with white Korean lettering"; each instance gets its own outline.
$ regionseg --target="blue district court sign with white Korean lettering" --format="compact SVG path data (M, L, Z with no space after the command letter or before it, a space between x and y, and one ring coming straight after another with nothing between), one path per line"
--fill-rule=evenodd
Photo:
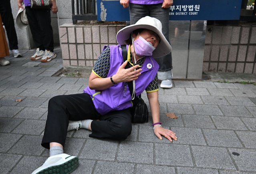
M170 20L239 20L242 0L173 0ZM129 21L129 8L119 0L98 0L100 21Z

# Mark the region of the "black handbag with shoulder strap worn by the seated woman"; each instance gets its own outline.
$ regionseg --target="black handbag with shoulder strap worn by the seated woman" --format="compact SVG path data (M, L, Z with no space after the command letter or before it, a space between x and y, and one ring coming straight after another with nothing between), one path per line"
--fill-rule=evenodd
M122 56L123 61L127 60L127 50L126 45L121 45L122 48ZM125 66L125 69L129 68L129 65L127 64ZM133 93L133 81L128 82L128 87L130 94ZM132 96L131 96L132 97ZM145 104L144 100L141 98L141 95L136 96L132 100L133 107L131 108L131 122L132 123L145 123L148 122L149 119L149 111L147 109L147 104Z

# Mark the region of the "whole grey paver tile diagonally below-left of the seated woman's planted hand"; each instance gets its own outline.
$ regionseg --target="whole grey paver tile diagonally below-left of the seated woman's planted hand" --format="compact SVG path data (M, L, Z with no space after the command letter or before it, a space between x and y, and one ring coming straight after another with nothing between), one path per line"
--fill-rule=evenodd
M123 141L119 146L117 161L153 164L153 154L151 152L153 152L153 143Z

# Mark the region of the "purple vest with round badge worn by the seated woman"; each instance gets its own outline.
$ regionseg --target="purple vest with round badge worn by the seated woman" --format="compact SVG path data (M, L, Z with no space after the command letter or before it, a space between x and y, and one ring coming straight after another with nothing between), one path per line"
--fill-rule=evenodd
M119 66L123 64L122 49L119 47L120 45L110 46L110 69L107 77L116 74ZM106 46L103 50L105 48ZM148 69L147 65L151 65L152 68ZM147 88L149 83L154 80L158 68L159 65L152 57L145 57L145 61L141 67L141 75L135 80L136 96L139 96L139 94ZM123 110L132 106L129 87L125 82L114 84L106 90L91 90L89 86L87 86L84 92L91 96L95 109L101 115L107 114L113 110Z

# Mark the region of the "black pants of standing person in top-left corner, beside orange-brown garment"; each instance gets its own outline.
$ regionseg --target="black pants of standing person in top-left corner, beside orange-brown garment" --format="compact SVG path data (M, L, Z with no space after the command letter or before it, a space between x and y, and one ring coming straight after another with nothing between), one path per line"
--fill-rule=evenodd
M14 27L10 0L0 0L0 14L6 29L10 50L18 50L18 39Z

